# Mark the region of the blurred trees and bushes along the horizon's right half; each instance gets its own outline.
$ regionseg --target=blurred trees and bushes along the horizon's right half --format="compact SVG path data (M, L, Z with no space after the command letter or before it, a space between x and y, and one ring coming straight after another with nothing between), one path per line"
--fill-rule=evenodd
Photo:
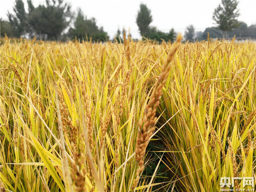
M243 21L238 21L240 15L237 9L238 1L221 1L221 4L214 10L212 19L216 22L216 27L206 28L202 31L195 31L193 25L189 25L185 30L185 41L194 42L196 40L207 40L208 33L212 38L227 38L227 37L249 37L256 38L256 25L247 26ZM152 22L150 10L145 4L140 4L136 23L140 30L140 35L148 39L156 41L173 41L176 38L176 32L172 28L169 33L164 33L157 30L156 27L149 26Z

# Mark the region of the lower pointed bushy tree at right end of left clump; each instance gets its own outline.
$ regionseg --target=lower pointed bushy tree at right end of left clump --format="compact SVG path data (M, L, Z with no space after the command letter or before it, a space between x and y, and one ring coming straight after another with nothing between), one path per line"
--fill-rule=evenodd
M74 28L70 28L68 36L71 39L86 40L86 37L91 38L92 41L107 41L108 34L104 32L103 27L98 28L95 18L90 20L85 17L81 9L78 10Z

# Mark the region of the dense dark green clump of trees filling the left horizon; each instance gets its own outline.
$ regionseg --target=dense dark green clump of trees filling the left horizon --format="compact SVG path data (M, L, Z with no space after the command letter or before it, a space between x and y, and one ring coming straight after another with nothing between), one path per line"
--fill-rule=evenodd
M1 19L1 37L33 38L42 40L92 39L92 41L107 41L108 34L103 27L96 25L96 19L87 19L81 9L76 17L71 12L71 5L65 1L45 1L35 7L31 0L27 1L28 12L23 1L15 1L13 11L7 13L8 20ZM74 22L72 22L74 21Z

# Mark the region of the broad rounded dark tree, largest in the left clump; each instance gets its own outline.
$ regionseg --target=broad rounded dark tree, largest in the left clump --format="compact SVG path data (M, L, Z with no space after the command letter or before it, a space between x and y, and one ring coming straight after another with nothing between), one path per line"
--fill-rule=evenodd
M59 40L71 19L70 4L64 1L46 1L45 5L34 7L28 3L28 24L42 39Z

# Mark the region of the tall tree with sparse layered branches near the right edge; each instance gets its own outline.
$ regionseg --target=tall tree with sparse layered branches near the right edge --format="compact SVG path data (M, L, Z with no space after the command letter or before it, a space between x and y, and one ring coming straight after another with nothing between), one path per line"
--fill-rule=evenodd
M216 22L217 28L222 31L224 38L226 32L240 26L240 22L236 19L240 14L236 9L238 1L222 0L221 2L222 4L214 10L212 19Z

